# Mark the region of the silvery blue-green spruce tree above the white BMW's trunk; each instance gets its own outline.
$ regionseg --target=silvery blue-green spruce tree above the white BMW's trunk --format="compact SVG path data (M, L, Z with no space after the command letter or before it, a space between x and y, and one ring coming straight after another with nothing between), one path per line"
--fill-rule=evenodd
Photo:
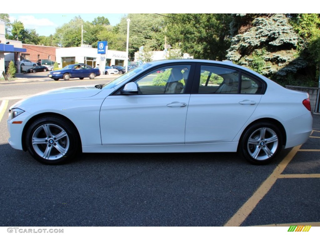
M228 60L280 84L300 84L295 75L307 66L307 61L299 57L300 38L284 14L259 15L250 27L239 26L238 32L231 40Z

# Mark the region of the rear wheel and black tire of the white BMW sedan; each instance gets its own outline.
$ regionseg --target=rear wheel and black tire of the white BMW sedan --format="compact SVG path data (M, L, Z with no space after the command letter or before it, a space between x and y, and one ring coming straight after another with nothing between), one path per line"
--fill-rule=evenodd
M252 164L268 164L281 151L282 135L279 128L269 122L255 123L245 130L239 154Z

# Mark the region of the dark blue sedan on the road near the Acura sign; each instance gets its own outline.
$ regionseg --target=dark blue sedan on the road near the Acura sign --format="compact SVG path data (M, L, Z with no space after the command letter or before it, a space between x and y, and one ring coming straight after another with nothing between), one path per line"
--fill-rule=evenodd
M48 77L55 81L58 81L60 78L70 80L70 78L76 77L79 79L84 79L85 77L93 79L95 76L100 76L100 70L86 64L70 64L60 70L51 71L48 74Z

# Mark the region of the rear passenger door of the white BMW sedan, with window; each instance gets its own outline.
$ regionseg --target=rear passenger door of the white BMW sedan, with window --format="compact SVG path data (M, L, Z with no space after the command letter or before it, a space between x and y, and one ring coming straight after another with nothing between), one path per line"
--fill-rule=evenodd
M186 143L232 141L257 108L262 83L236 69L214 65L198 65L196 73L196 92L191 94L188 106ZM250 81L250 87L241 86L244 80Z

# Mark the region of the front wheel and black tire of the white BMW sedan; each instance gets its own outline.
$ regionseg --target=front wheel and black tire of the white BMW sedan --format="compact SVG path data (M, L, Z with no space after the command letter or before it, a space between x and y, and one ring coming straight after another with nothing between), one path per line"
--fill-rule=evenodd
M75 127L54 116L41 117L33 122L28 127L25 141L31 156L44 164L60 164L71 160L81 149Z

